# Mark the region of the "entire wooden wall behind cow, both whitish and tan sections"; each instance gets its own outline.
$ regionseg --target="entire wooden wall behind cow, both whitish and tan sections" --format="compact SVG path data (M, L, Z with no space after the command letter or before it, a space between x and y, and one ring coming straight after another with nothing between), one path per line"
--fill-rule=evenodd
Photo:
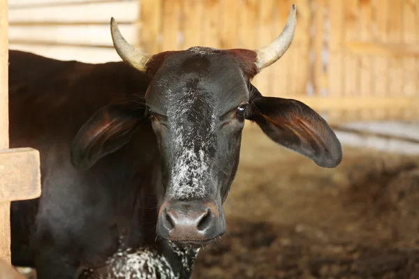
M10 47L59 59L120 60L109 20L147 52L257 48L281 32L288 52L254 80L332 122L419 119L419 0L10 0Z

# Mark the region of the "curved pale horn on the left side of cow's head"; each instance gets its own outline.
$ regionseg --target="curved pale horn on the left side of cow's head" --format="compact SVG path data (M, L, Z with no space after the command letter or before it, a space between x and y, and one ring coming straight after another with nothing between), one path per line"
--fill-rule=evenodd
M117 21L113 17L110 19L110 33L112 35L115 50L117 50L117 53L122 60L126 61L138 70L145 71L145 66L151 55L137 50L128 44L122 36L121 31L119 31Z

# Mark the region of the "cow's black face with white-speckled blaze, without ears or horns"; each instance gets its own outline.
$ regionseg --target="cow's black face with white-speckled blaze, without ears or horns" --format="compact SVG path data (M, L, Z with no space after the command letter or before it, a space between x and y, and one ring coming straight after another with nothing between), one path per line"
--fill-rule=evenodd
M226 51L192 47L154 59L161 64L146 100L165 188L157 231L171 241L210 241L226 229L222 202L239 163L248 79Z

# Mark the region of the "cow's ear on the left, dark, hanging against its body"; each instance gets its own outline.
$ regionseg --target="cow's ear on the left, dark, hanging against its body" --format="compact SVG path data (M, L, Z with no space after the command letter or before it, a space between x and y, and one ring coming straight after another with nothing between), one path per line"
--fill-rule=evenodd
M71 163L89 169L100 158L126 144L145 118L131 103L105 105L78 130L71 143Z

